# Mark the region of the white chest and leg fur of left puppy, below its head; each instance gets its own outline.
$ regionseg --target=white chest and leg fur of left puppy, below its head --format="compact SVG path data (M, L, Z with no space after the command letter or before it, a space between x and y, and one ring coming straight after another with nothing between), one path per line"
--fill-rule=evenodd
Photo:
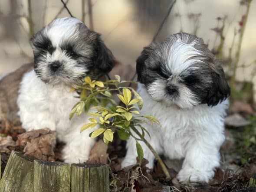
M69 120L72 107L79 101L78 94L66 85L45 84L34 70L24 75L20 83L18 107L22 126L27 131L49 128L57 132L57 138L66 143L63 159L66 163L83 163L89 158L95 140L89 137L92 129L80 133L89 117L82 113Z

